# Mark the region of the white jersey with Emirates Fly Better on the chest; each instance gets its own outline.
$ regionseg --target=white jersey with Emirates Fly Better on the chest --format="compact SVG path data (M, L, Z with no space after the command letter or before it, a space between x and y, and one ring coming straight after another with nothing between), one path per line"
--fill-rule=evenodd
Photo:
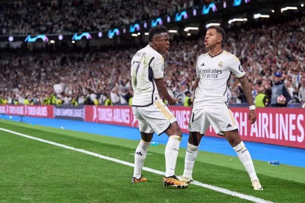
M200 55L196 62L199 85L193 109L228 108L227 87L232 73L235 78L246 75L238 58L230 52L223 50L216 56Z

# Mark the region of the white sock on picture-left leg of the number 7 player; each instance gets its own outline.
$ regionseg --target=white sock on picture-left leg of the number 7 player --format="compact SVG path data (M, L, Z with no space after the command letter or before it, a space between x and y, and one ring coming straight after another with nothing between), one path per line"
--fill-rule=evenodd
M141 171L144 165L144 161L147 154L147 149L150 145L150 142L144 142L142 139L136 149L135 152L135 167L134 167L134 175L136 179L141 178Z

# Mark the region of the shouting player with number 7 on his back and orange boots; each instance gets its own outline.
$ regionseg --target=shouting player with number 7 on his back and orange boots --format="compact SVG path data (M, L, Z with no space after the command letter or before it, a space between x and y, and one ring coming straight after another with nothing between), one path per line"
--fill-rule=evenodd
M132 99L133 114L139 122L141 140L135 152L135 166L132 182L145 182L141 171L146 158L147 149L153 134L165 132L168 142L165 147L165 176L163 186L186 188L187 183L179 181L175 176L175 166L179 151L182 133L176 118L164 105L162 98L169 105L175 105L163 80L164 58L169 49L169 35L167 28L156 26L148 34L149 44L139 50L131 60L131 82L134 91ZM161 97L160 97L161 96Z

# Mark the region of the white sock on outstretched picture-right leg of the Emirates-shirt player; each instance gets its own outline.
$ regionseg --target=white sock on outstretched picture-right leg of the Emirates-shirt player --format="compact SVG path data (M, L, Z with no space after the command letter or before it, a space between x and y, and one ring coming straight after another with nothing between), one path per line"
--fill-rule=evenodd
M251 181L258 180L257 175L255 173L254 165L250 156L248 149L245 147L245 144L241 141L238 145L233 147L234 151L236 152L239 160L245 166L246 171L248 172Z

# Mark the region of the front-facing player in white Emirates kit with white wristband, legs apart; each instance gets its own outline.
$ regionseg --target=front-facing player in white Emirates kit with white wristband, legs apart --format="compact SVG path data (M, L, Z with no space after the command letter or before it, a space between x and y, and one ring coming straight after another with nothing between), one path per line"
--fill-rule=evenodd
M225 35L224 29L220 26L208 27L204 45L209 51L197 58L197 81L189 122L190 137L185 158L185 170L180 180L186 183L193 181L192 173L198 155L198 146L204 132L211 125L215 132L226 137L233 147L250 176L253 188L262 190L250 153L239 138L235 119L228 107L227 84L233 73L239 80L250 106L249 122L253 124L256 121L255 105L246 73L238 58L222 49Z

